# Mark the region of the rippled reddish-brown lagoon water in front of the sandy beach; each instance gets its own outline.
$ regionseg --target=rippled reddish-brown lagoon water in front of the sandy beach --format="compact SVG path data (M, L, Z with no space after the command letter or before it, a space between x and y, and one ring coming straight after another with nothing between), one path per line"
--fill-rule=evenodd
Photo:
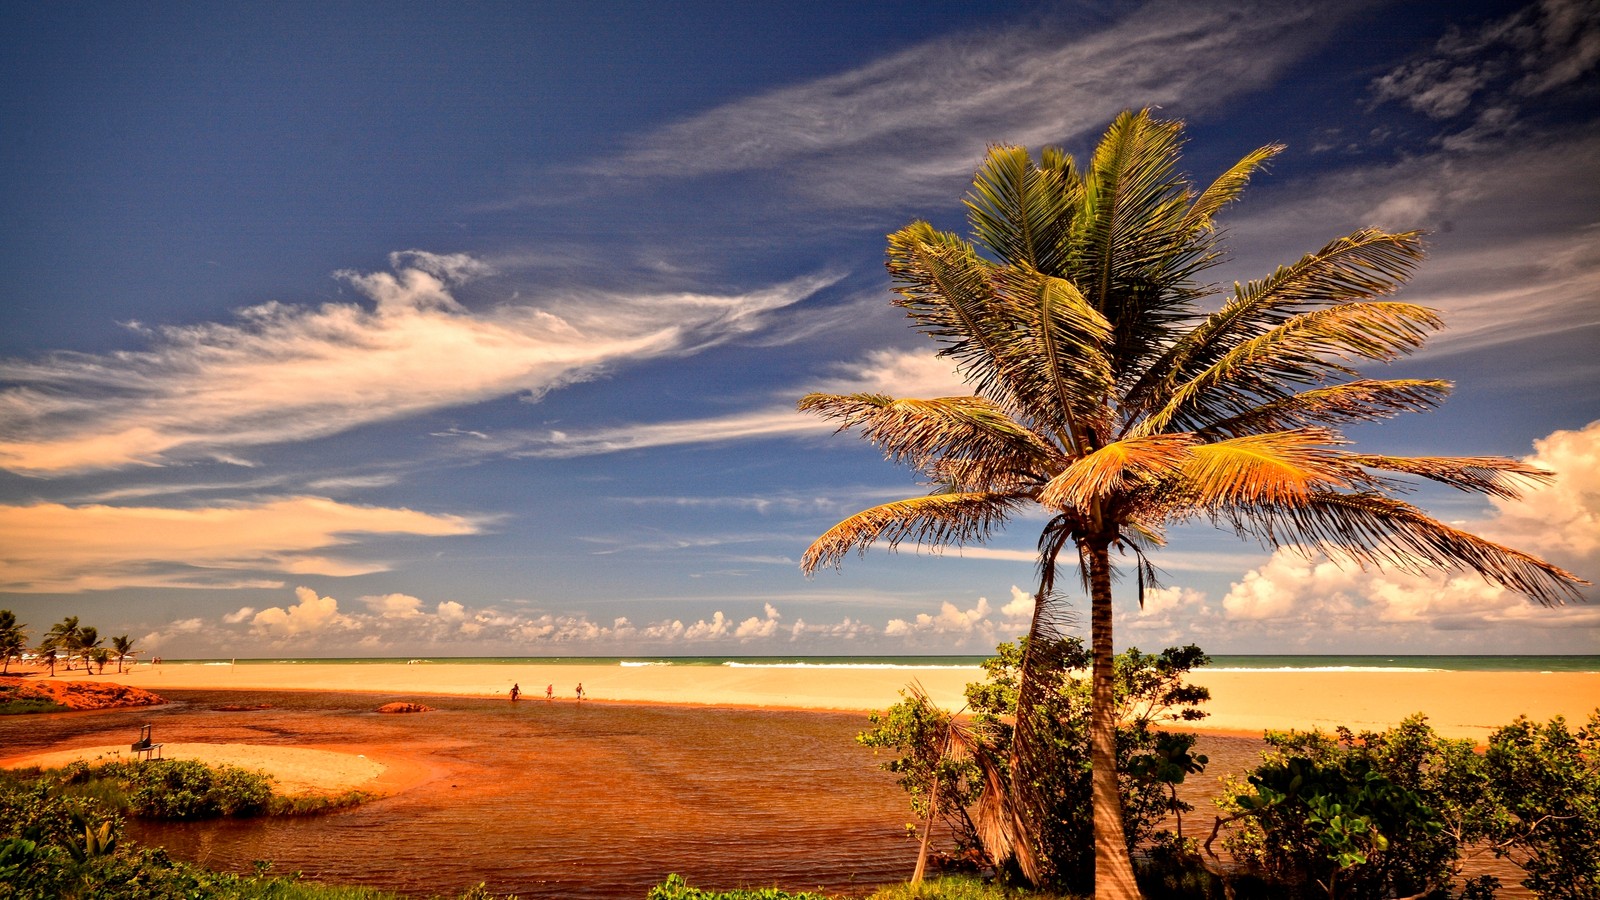
M866 894L904 881L917 846L894 778L853 737L861 714L600 703L429 700L382 716L355 693L168 692L170 706L11 716L0 746L125 743L141 724L165 741L336 748L400 762L410 786L331 815L136 825L134 836L202 865L365 884L413 895L480 881L501 894L638 898L669 873L704 887ZM1262 743L1203 735L1208 775L1187 786L1203 836L1218 777ZM1501 874L1515 884L1520 873ZM1506 892L1506 897L1515 894Z

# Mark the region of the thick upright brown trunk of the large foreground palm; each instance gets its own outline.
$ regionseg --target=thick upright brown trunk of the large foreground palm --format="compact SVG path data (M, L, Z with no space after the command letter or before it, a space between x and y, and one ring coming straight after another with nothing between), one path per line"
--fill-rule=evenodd
M1094 900L1139 900L1117 793L1115 652L1112 649L1110 551L1085 548L1090 564L1090 645L1094 655L1090 769L1094 814Z

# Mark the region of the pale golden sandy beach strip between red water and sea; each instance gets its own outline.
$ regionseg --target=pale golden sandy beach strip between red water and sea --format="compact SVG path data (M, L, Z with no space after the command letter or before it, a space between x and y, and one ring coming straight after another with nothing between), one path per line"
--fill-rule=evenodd
M43 676L38 676L43 677ZM66 676L58 676L66 677ZM899 700L920 682L934 703L960 709L962 692L982 671L976 666L928 668L765 668L765 666L621 666L534 663L285 663L186 665L139 663L131 673L85 676L160 693L187 690L331 690L411 697L507 697L520 684L520 703L544 703L554 685L557 703L573 703L582 684L587 701L755 709L869 713ZM1517 716L1573 725L1600 708L1600 673L1526 671L1208 671L1194 684L1211 689L1210 713L1182 727L1261 737L1274 730L1379 730L1422 713L1443 737L1485 743Z

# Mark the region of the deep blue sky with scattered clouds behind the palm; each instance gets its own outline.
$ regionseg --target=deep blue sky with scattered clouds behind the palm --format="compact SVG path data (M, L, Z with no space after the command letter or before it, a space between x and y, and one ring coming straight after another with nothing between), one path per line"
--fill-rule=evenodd
M1402 296L1448 330L1384 375L1456 392L1352 437L1557 469L1419 498L1594 580L1600 6L1334 6L11 5L0 607L173 658L986 652L1042 522L806 580L918 485L794 404L958 392L885 234L1146 106L1200 181L1288 144L1222 280L1430 232ZM1474 577L1157 562L1120 644L1600 649L1600 604Z

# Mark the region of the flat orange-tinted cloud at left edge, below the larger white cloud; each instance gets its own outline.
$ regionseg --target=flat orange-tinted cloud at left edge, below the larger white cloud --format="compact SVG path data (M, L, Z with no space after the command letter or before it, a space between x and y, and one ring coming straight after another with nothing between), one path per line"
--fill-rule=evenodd
M278 588L282 575L363 575L362 535L472 535L485 520L320 496L173 509L0 506L0 591Z

